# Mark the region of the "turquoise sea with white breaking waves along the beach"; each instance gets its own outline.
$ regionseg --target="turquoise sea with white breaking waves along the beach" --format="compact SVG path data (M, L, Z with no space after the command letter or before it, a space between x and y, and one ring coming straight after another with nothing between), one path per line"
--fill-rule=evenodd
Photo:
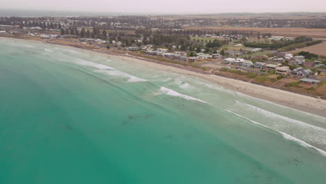
M326 118L81 49L0 39L0 183L325 183Z

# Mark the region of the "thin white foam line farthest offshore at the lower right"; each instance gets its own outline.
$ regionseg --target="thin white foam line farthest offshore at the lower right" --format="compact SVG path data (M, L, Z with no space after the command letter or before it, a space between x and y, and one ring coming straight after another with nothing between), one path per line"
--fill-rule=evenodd
M246 118L246 117L244 117L244 116L241 116L240 114L236 114L235 112L231 112L231 111L229 111L229 110L227 110L227 109L224 109L224 111L229 112L229 113L231 113L231 114L234 114L235 116L238 116L238 117L240 117L240 118L244 118L244 119L246 119L247 121L250 121L251 123L254 123L254 124L256 124L256 125L260 125L260 126L262 126L262 127L264 127L264 128L268 128L269 130L272 130L272 131L275 131L275 132L279 132L279 134L281 134L281 135L284 137L284 139L287 139L287 140L290 140L290 141L295 141L295 142L297 142L297 144L300 144L301 146L304 146L304 147L306 147L306 148L313 148L313 149L315 149L316 151L318 151L318 152L320 153L320 155L323 155L323 156L326 157L326 151L323 151L323 150L321 150L320 148L316 148L315 146L312 146L311 144L308 144L308 143L306 143L305 141L302 141L301 139L297 139L297 138L295 138L295 137L293 137L293 136L291 136L291 135L286 134L285 132L281 132L281 131L279 131L279 130L274 130L274 129L272 129L272 128L266 126L266 125L263 125L263 124L258 123L258 122L256 122L256 121L252 121L252 120L249 119L249 118Z

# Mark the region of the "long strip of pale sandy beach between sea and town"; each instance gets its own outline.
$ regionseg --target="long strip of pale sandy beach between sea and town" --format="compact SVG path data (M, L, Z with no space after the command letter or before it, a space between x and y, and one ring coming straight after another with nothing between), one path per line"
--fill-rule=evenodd
M3 37L0 37L3 38ZM4 38L4 39L20 39L20 38ZM192 77L198 77L200 79L206 80L213 84L224 87L224 89L229 89L244 95L249 95L253 98L258 98L261 100L267 100L269 102L274 102L278 105L283 105L293 109L300 110L302 112L308 112L311 114L316 114L318 116L326 117L326 100L315 98L309 95L302 95L299 93L293 93L290 91L285 91L282 89L275 89L268 86L263 86L260 84L252 84L250 82L243 82L238 79L231 79L228 77L222 77L218 75L213 75L210 72L205 72L196 68L189 66L180 66L174 63L164 63L162 61L155 61L153 59L141 58L139 56L132 56L126 54L118 54L110 52L107 49L89 49L86 47L76 47L74 45L64 45L59 43L49 43L45 40L29 40L21 39L27 41L33 41L38 43L47 43L54 45L61 45L64 47L75 47L77 49L88 50L90 52L96 52L98 54L109 55L111 57L116 57L122 59L126 62L139 63L147 68L154 68L156 70L164 70L169 72L176 72L180 75L188 75Z

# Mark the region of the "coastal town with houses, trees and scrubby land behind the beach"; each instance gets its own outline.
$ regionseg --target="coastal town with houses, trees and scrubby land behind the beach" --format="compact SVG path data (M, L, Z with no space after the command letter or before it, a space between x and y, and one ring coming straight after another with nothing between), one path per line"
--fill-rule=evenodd
M325 47L326 37L279 35L245 29L203 29L216 26L216 22L219 21L203 17L185 20L149 16L0 17L0 36L107 49L115 54L173 63L214 75L326 98L326 53L304 50L318 45ZM303 26L298 22L283 22L280 26L280 20L266 22L258 24L249 19L242 24L275 29ZM323 19L306 20L305 23L316 27L326 25ZM229 21L228 26L236 28L239 25Z

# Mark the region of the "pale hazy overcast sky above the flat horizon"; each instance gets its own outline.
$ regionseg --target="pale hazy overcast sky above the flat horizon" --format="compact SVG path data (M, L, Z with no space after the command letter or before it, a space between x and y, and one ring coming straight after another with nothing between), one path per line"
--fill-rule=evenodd
M326 0L1 0L1 8L131 13L326 12Z

